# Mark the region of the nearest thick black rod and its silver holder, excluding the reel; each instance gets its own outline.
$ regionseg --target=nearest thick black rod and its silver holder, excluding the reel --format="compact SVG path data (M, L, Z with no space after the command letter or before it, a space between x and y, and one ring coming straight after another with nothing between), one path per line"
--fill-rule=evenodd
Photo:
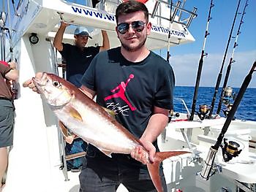
M225 123L222 127L222 131L220 132L219 137L217 138L217 142L214 146L210 147L206 161L204 161L203 163L201 177L203 177L204 180L208 180L209 177L211 177L211 169L214 166L214 159L218 152L218 149L222 145L222 139L224 138L225 133L227 132L228 126L230 126L231 120L233 120L233 117L236 113L238 105L240 104L240 101L244 96L244 93L246 91L246 88L249 85L249 82L252 80L252 73L255 71L256 71L256 61L252 65L252 69L249 71L249 74L247 74L246 77L244 78L244 82L241 85L238 95L236 96L233 107L231 108L230 112L227 115L227 119L225 120Z

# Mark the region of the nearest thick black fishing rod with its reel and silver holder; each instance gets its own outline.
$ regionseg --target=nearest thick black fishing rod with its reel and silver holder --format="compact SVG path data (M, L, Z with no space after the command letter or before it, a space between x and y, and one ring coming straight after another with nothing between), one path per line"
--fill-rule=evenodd
M232 141L227 143L227 139L224 139L224 136L225 133L227 132L228 126L230 126L231 120L233 120L238 105L240 104L240 101L244 96L244 93L249 85L249 82L252 80L252 73L255 71L256 61L252 65L249 74L247 74L246 77L244 78L244 82L241 85L238 95L236 96L233 107L231 108L230 112L227 115L227 119L225 120L225 123L222 127L222 131L220 132L219 137L217 138L216 144L210 147L206 161L203 162L203 169L202 172L200 173L203 180L208 180L209 177L211 177L211 175L213 174L211 170L214 168L214 158L218 152L219 147L222 148L222 156L225 162L230 161L233 157L236 157L238 156L239 153L241 153L241 150L238 150L238 143ZM224 139L225 146L222 145L222 139Z

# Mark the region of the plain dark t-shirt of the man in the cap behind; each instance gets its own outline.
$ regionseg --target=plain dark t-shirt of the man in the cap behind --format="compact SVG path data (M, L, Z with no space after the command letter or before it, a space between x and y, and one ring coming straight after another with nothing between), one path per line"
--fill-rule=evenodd
M99 53L99 46L84 47L80 50L75 45L63 43L63 50L60 51L67 63L67 80L74 74L84 74L89 67L91 60Z

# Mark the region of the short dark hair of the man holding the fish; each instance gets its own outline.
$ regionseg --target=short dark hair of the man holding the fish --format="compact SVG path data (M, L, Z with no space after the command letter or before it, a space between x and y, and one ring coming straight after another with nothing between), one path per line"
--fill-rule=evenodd
M144 12L145 19L148 22L148 8L145 4L139 2L139 1L126 1L124 3L121 3L116 8L116 23L118 23L118 17L121 15L127 15L132 12L138 12L142 11Z

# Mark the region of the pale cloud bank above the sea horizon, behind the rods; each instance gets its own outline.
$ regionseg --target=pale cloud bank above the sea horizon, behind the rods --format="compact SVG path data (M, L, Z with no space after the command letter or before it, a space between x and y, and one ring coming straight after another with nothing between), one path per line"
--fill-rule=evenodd
M252 68L252 64L256 60L256 50L247 52L235 52L235 63L231 64L230 76L227 85L232 87L241 87L244 78ZM195 86L197 77L197 69L200 60L199 54L176 55L170 58L170 64L176 74L176 85ZM217 76L222 66L223 55L209 54L203 58L203 69L200 77L200 86L215 87ZM225 65L222 70L222 87L225 78L227 65L230 61L230 53L227 54ZM256 88L256 74L252 74L252 80L249 87Z

